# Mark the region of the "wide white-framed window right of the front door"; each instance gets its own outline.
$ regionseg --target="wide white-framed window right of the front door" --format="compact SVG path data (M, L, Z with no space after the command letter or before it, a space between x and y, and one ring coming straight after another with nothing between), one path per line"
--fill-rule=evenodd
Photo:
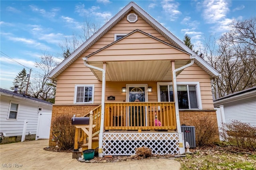
M173 102L173 85L158 83L158 101ZM179 109L202 109L199 83L177 83Z

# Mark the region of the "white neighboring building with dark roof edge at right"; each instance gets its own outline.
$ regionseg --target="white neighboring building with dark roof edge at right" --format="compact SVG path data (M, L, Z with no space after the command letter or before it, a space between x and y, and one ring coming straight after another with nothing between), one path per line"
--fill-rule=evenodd
M256 127L256 87L221 97L213 103L217 115L219 113L218 124L238 120Z

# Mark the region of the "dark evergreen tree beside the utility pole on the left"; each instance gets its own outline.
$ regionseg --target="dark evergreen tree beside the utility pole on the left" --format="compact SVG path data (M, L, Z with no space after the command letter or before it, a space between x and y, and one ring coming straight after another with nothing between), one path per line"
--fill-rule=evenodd
M27 79L27 71L25 68L22 69L18 73L18 75L14 78L13 87L10 89L14 90L14 87L17 85L18 86L18 93L22 94L23 92L26 91L28 79Z

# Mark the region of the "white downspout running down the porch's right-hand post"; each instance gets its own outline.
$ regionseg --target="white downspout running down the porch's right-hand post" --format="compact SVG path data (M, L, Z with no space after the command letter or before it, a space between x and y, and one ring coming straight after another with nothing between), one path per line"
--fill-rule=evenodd
M180 71L182 69L185 69L191 65L194 64L194 58L191 59L191 62L188 63L187 65L184 65L178 69L175 69L172 73L173 80L172 80L172 85L173 85L173 93L174 93L174 101L175 101L175 113L176 113L176 124L177 124L177 131L179 134L179 148L180 148L180 154L185 153L185 146L183 143L183 135L181 132L180 128L180 113L179 113L179 104L178 104L178 93L177 93L177 81L176 81L176 72Z

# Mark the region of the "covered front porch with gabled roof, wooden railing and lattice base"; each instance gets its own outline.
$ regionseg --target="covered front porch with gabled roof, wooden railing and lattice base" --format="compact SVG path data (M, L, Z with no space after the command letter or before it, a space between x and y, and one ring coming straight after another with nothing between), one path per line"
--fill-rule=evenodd
M148 99L147 89L153 81L172 81L176 98L176 76L194 63L190 53L134 30L82 59L102 83L101 106L92 111L99 156L130 155L142 146L156 154L184 153L178 103L156 102L157 94ZM126 95L120 95L121 89L106 82L132 83L126 83ZM108 94L122 96L118 102L106 101L106 88Z

